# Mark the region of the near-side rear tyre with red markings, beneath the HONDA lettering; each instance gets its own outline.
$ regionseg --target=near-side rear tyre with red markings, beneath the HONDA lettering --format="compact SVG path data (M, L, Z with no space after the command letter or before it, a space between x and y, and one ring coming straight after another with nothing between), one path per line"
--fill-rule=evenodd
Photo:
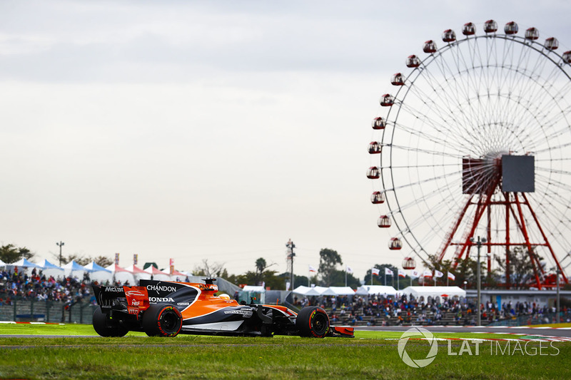
M143 331L149 337L176 337L183 327L183 316L171 304L152 304L143 313Z

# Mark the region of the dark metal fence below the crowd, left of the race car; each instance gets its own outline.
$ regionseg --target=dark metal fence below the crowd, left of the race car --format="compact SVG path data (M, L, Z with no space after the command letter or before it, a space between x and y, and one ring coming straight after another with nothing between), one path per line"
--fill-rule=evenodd
M0 305L0 321L91 324L95 308L89 302L12 299L11 304Z

